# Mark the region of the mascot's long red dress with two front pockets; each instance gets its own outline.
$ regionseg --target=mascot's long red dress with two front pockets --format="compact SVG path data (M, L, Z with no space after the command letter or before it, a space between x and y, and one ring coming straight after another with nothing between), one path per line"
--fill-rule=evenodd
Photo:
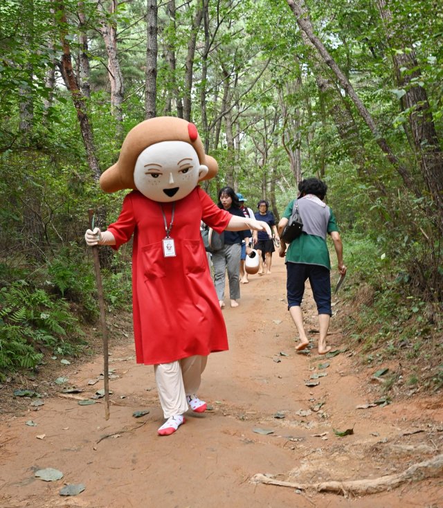
M173 203L161 204L169 227ZM159 203L138 190L125 197L117 222L107 230L116 237L115 250L134 233L132 302L137 363L156 365L228 350L200 221L221 233L230 217L197 186L175 201L170 237L177 256L164 257L165 222Z

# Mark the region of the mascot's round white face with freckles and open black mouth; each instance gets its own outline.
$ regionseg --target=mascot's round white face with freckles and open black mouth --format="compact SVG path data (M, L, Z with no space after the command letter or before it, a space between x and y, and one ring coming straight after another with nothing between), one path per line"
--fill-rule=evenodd
M136 188L153 201L169 203L188 196L208 167L184 141L162 141L141 152L134 168Z

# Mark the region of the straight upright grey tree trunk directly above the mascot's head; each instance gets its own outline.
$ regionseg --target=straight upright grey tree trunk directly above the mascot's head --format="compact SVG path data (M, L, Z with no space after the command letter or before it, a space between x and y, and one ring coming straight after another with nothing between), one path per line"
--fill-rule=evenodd
M157 116L157 2L146 0L146 88L145 88L145 120Z

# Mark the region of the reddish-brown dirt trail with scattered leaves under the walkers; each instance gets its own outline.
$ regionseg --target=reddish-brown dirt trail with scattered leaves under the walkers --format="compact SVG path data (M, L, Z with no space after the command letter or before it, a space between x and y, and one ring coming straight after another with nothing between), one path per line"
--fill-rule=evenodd
M136 365L132 341L120 347L111 344L109 366L116 369L118 378L110 383L114 403L109 421L103 417L100 401L79 406L77 400L61 397L45 399L38 411L29 406L26 414L3 419L0 506L443 506L443 487L437 480L357 500L309 491L300 495L293 489L249 482L255 473L318 482L404 471L439 453L443 404L415 400L356 410L357 405L380 397L379 387L368 383L372 371L356 376L350 351L334 358L318 356L315 348L309 356L296 354L284 264L276 256L272 275L251 277L250 284L242 286L240 302L237 309L224 310L230 351L210 356L204 372L199 397L213 410L188 414L177 433L157 436L163 419L153 370ZM304 310L307 328L317 328L310 291ZM334 318L331 332L333 350L343 348L345 341L334 327ZM316 334L310 336L316 339ZM318 364L326 362L329 367L318 370ZM100 358L76 369L70 365L62 373L69 377L67 384L84 388L79 397L102 388L102 381L87 384L102 372ZM316 379L320 383L315 387L305 386L315 373L327 376ZM311 412L320 402L325 402L320 410ZM150 410L150 414L136 419L132 413L138 410ZM311 413L300 416L300 410ZM274 418L276 412L284 414L284 419ZM26 426L29 419L37 426ZM336 437L332 430L352 427L354 435L346 437ZM273 434L260 435L253 428L273 430ZM410 430L424 431L401 436ZM98 443L111 433L119 435ZM327 439L313 436L323 433ZM44 439L36 439L42 434ZM48 483L36 480L35 471L46 467L59 469L64 478ZM75 498L61 498L58 491L64 483L83 483L86 490Z

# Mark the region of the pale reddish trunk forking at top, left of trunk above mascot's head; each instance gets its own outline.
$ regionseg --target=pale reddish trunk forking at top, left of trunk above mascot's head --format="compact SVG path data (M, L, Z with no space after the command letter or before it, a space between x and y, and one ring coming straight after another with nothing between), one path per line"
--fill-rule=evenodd
M120 69L120 62L117 57L117 27L116 24L108 23L103 10L102 0L97 2L100 14L100 33L105 42L108 55L109 83L111 84L111 111L118 122L119 135L123 135L123 100L125 98L125 87L123 73ZM111 13L117 9L117 0L111 0L109 10Z

